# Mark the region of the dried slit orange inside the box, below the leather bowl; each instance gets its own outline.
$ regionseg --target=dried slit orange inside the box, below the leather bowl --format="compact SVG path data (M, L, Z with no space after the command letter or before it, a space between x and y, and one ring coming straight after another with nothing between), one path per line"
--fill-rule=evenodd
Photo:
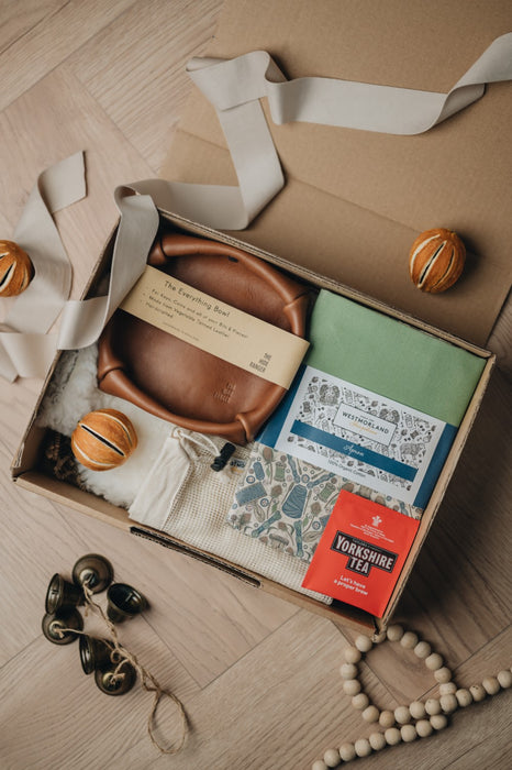
M136 446L135 428L116 409L90 411L78 421L71 435L73 453L91 471L109 471L122 465Z

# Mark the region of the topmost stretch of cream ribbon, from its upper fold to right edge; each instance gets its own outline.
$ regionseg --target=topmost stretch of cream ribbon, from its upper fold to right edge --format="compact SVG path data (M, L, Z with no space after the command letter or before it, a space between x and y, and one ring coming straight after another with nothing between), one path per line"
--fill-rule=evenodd
M486 82L512 78L512 33L494 40L448 94L321 77L287 80L268 53L194 58L188 73L219 112L268 97L277 124L301 121L412 135L479 99Z

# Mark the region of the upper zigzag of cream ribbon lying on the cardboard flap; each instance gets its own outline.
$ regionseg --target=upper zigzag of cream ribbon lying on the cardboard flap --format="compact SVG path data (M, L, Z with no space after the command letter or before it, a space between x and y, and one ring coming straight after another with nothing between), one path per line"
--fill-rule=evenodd
M193 58L188 74L215 107L238 187L145 180L132 185L156 205L216 230L243 230L285 185L259 103L275 123L303 121L412 135L468 107L486 82L512 79L512 33L497 37L448 94L333 78L287 80L265 51L231 61Z

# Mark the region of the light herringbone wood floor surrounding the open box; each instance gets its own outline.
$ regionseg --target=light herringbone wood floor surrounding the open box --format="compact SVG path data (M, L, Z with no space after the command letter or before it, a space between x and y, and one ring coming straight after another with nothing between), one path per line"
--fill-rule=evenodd
M113 188L158 172L189 88L185 63L207 50L220 7L0 0L0 232L12 235L40 170L85 148L88 198L57 217L74 296L115 222ZM509 308L490 341L500 367L397 615L436 646L460 686L511 663L510 326ZM305 770L324 749L368 735L337 673L350 631L14 487L9 465L40 388L0 383L0 766ZM185 703L191 733L178 757L147 739L147 694L103 696L76 645L41 632L49 576L90 551L149 597L122 641ZM424 667L393 647L369 656L364 679L381 707L435 692ZM357 767L509 768L511 714L502 692L438 736ZM162 715L160 735L175 735L174 712Z

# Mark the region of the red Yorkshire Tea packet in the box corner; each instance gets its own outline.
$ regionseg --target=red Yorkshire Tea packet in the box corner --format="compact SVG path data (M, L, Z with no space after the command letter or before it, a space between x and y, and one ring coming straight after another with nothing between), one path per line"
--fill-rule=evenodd
M419 526L342 491L302 587L382 617Z

